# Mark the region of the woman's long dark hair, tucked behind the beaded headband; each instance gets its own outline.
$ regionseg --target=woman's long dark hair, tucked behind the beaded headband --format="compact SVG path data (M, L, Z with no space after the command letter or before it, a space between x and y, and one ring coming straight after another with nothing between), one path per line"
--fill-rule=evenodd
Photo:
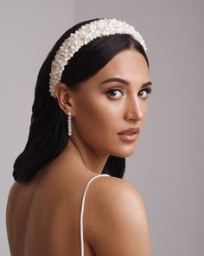
M67 145L67 115L61 110L57 99L49 93L51 62L54 60L56 51L71 33L94 20L99 20L99 18L78 23L67 30L54 44L41 66L35 85L29 139L13 166L13 177L19 183L28 182L41 167L61 154ZM95 75L111 61L112 57L124 49L136 49L144 56L149 67L142 45L131 35L102 36L84 45L74 54L62 73L61 82L66 83L70 89L76 89L78 83ZM102 173L122 179L124 168L124 158L110 155Z

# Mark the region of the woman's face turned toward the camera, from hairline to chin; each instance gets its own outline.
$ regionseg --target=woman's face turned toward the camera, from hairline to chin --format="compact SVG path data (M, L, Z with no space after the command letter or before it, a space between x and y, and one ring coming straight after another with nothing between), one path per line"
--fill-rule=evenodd
M138 135L118 133L129 128L141 131L150 93L149 75L144 57L134 49L126 49L82 82L73 95L73 138L83 139L99 154L131 155Z

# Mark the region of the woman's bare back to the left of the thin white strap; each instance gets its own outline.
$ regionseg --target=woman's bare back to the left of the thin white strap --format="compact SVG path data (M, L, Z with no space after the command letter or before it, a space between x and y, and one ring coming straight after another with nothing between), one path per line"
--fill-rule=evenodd
M80 255L81 200L91 178L15 182L6 212L11 254ZM92 256L86 242L85 249Z

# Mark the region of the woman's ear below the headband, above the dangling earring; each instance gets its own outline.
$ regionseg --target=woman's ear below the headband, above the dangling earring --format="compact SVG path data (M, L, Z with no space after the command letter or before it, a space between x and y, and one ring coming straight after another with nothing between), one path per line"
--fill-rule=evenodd
M67 85L63 82L58 83L55 89L55 94L59 106L65 112L65 114L67 115L67 113L71 111L74 115L73 92L67 88Z

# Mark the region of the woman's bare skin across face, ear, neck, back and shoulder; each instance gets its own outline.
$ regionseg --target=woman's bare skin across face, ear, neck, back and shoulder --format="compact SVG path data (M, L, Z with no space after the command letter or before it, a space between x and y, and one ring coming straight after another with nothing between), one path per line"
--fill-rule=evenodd
M127 81L104 82L118 77ZM137 141L118 132L139 127L147 110L147 63L135 49L114 56L77 91L64 83L57 101L73 113L73 135L63 152L27 184L10 189L6 224L13 256L80 255L80 206L87 182L101 174L109 155L127 157ZM29 170L28 170L29 171ZM84 208L85 256L151 256L150 232L141 195L128 181L98 177Z

